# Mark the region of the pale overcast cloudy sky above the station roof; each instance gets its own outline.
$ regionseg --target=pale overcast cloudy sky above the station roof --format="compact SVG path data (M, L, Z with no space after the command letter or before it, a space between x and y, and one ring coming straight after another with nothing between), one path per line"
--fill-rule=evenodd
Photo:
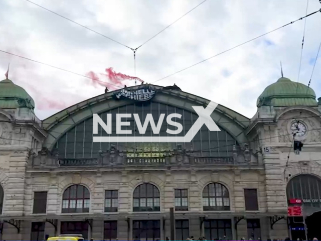
M32 0L124 45L136 48L203 0ZM308 13L321 8L309 0ZM305 16L305 0L207 0L136 53L136 76L152 83L178 70ZM0 50L79 74L134 75L133 52L26 0L0 1ZM219 101L247 116L256 99L280 77L298 80L304 20L155 84ZM299 82L307 85L321 41L321 13L307 18ZM321 54L311 87L321 96ZM104 93L90 79L0 52L0 78L10 75L36 102L44 119ZM1 74L3 73L3 74ZM3 76L3 77L1 77ZM128 81L128 85L133 85ZM228 97L226 97L228 96Z

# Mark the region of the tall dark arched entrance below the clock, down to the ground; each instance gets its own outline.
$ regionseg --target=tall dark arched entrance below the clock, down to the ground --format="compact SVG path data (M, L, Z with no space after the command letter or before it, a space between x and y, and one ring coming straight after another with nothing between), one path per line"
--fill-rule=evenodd
M305 229L309 240L314 237L321 239L321 232L319 231L321 179L310 174L295 176L287 184L286 195L288 206L297 205L293 200L301 200L303 217L305 218L303 220L303 217L289 217L292 240L305 239Z

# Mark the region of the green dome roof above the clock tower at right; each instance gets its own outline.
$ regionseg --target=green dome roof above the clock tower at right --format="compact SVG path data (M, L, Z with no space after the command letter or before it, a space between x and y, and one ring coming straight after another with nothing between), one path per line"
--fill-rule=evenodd
M317 106L313 89L304 84L293 82L281 77L275 83L267 86L256 101L257 107L305 105Z

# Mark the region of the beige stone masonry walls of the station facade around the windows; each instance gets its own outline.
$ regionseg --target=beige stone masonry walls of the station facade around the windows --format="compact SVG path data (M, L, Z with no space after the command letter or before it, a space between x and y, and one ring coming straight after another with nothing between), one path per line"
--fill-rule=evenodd
M168 103L187 103L175 94L167 99ZM165 101L164 96L160 94L158 99ZM89 105L95 109L99 103ZM80 109L77 105L74 111L79 114ZM99 150L97 158L60 158L49 145L56 135L51 130L66 129L63 125L70 122L76 125L76 118L81 117L68 113L69 117L44 127L27 108L0 109L0 183L4 189L1 239L30 240L34 222L44 223L41 235L58 235L63 221L86 222L88 238L104 239L107 220L117 221L119 240L135 238L133 220L159 220L159 238L165 239L171 234L170 208L175 206L175 189L188 190L188 211L175 211L175 219L189 220L190 236L204 236L206 220L229 219L233 239L251 238L247 220L259 219L262 239L285 238L290 235L287 183L300 174L321 178L320 110L307 106L260 106L239 132L247 142L239 142L229 158L202 158L178 147L171 156L132 161L114 147ZM214 111L213 119L217 118L215 114ZM225 119L228 114L223 113ZM307 128L306 134L295 138L304 143L299 155L292 151L293 120L303 122ZM232 121L225 125L237 132ZM133 192L143 183L153 184L159 190L160 211L133 211ZM202 193L210 183L227 188L230 210L204 211ZM89 190L89 212L63 213L64 191L75 184ZM246 210L244 189L256 189L258 210ZM117 212L104 211L106 190L118 190ZM46 213L34 213L35 192L47 192Z

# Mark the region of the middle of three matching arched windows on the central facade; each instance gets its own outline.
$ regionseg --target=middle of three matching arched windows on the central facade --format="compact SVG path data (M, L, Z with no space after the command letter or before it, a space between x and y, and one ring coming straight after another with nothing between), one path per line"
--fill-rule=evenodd
M159 190L150 183L140 184L133 193L133 211L160 211Z

